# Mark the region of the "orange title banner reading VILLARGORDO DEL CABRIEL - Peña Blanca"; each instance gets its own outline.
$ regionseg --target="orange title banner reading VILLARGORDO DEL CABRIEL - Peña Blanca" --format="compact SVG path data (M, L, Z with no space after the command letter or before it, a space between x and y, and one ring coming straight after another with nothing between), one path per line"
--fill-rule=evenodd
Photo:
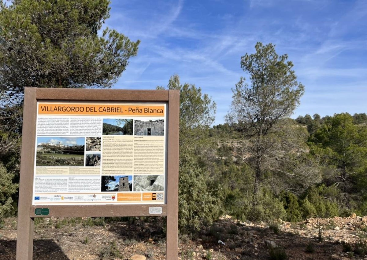
M164 116L164 105L38 103L39 115Z

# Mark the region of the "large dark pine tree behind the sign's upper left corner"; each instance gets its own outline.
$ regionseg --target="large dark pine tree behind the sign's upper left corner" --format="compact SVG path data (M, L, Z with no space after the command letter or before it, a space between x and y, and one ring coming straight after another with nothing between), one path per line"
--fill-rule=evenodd
M109 88L139 41L105 28L109 0L0 0L0 160L19 178L25 87Z

